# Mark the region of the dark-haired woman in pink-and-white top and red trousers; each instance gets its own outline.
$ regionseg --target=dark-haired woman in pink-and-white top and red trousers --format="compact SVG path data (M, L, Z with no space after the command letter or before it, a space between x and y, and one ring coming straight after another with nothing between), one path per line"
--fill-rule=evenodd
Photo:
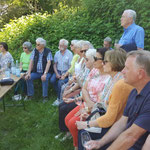
M106 50L106 48L97 49L96 57L94 57L94 68L96 68L97 70L92 70L92 75L90 72L87 81L82 89L82 97L89 110L96 102L99 101L98 93L101 93L103 91L105 84L110 78L110 76L104 73L102 65ZM78 130L76 127L76 121L80 120L80 114L77 115L80 109L81 106L77 106L65 118L66 126L68 127L70 133L73 136L73 144L75 149L77 149L78 145Z

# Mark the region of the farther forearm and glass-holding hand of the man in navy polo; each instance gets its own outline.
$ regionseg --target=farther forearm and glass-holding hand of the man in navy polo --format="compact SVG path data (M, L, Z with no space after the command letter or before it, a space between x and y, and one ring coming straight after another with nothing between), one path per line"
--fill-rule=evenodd
M90 150L99 149L114 141L125 130L127 121L128 117L122 116L99 141L88 142L87 144L90 145Z

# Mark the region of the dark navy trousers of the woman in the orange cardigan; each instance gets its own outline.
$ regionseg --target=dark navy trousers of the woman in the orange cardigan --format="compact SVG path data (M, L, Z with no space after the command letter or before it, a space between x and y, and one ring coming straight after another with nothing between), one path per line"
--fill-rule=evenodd
M91 136L92 140L97 140L97 139L101 139L106 132L109 130L110 128L102 128L101 133L92 133L92 132L88 132ZM81 133L84 132L85 130L79 130L78 131L78 150L85 150L85 148L82 146L82 141L81 141ZM106 144L105 146L101 147L100 150L106 150L111 143Z

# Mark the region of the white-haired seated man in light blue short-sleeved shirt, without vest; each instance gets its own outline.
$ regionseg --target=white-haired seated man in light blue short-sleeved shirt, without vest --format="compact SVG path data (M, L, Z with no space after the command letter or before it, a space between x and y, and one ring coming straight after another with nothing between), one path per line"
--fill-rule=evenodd
M61 39L59 41L59 51L54 56L54 74L50 79L50 83L53 84L57 92L57 100L53 103L58 105L60 102L61 86L68 82L68 77L64 78L65 73L68 71L71 65L73 54L67 49L68 41ZM57 82L58 81L58 82Z

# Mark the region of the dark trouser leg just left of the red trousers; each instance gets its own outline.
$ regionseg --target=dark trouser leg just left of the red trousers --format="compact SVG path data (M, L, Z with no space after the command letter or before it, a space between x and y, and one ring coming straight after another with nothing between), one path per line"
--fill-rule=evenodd
M66 124L65 124L65 117L76 106L77 105L74 102L69 103L69 104L62 102L59 104L59 128L61 131L68 131L68 128L66 127Z

